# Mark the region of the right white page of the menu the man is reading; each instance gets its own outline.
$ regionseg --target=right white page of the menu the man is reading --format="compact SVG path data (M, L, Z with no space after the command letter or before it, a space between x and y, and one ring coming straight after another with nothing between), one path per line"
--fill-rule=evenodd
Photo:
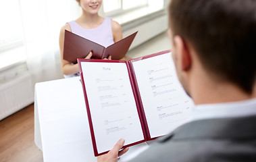
M193 101L178 81L171 53L132 65L151 138L168 134L188 121Z

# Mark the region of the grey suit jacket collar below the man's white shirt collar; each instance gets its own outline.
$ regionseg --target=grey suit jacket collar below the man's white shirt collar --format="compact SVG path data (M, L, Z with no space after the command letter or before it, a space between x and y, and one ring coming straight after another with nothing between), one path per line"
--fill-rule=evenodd
M159 142L188 138L228 138L236 140L256 138L256 115L192 121L180 126L174 132L163 136L163 138L159 138Z

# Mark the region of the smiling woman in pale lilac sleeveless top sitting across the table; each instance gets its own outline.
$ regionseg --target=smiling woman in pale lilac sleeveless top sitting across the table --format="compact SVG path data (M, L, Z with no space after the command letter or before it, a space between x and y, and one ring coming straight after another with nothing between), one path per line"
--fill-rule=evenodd
M61 54L61 71L65 76L78 76L78 63L72 64L63 59L63 45L65 30L78 34L99 45L108 47L122 39L122 28L118 22L111 18L99 16L99 8L102 0L76 0L82 8L82 15L68 22L61 28L59 34L59 49ZM89 53L85 58L90 59L93 53ZM108 58L110 59L110 57Z

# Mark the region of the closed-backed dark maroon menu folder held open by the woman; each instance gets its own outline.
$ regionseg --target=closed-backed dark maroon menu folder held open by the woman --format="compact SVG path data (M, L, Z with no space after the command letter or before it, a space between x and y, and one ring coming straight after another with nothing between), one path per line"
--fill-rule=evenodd
M105 48L102 45L65 30L63 59L76 63L78 58L86 57L91 51L93 52L92 59L103 59L109 57L109 55L111 55L111 59L122 59L126 55L136 34L137 32L134 32L130 36Z

